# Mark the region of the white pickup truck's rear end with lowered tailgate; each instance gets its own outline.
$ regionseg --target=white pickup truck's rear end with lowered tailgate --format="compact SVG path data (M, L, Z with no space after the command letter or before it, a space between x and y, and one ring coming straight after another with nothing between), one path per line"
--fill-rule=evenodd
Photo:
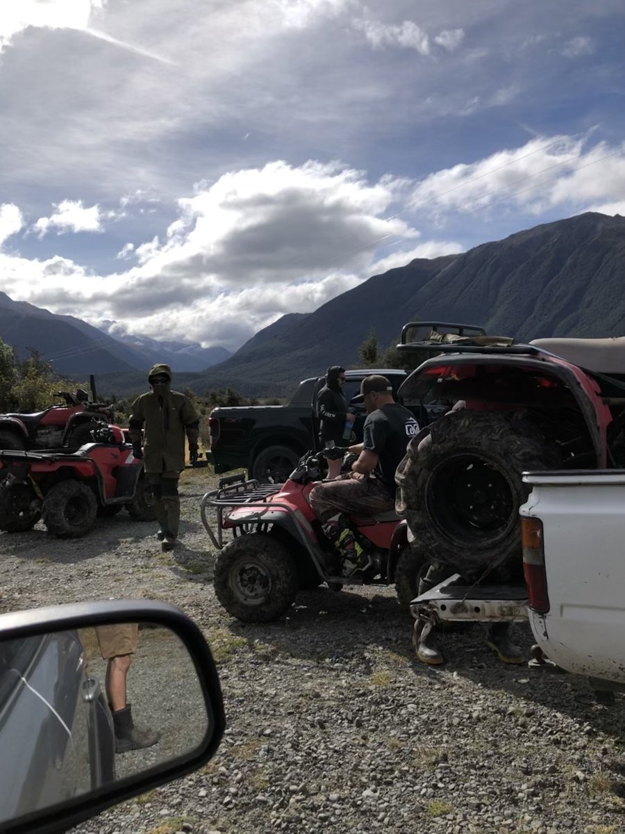
M525 586L463 585L453 575L413 600L415 633L433 620L529 619L539 660L625 689L625 471L523 475Z

